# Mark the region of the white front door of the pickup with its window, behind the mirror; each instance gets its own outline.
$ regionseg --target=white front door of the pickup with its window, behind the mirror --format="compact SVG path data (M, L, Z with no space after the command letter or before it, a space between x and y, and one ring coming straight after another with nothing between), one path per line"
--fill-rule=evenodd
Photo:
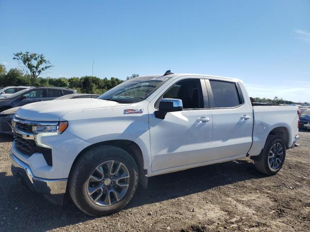
M181 77L167 89L148 108L152 172L197 165L209 160L211 153L212 113L204 79ZM156 118L154 112L162 98L181 99L184 110Z

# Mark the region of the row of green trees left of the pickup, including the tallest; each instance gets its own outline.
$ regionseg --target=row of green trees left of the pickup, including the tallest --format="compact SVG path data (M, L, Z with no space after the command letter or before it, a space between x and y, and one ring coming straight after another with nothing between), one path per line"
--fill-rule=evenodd
M111 77L101 79L96 76L82 76L82 77L39 77L39 75L53 67L43 54L30 52L15 53L13 59L19 63L20 69L10 69L6 73L5 66L0 65L0 87L7 86L56 86L56 87L70 87L76 89L79 93L93 93L102 94L113 88L123 80ZM127 79L139 76L132 74Z

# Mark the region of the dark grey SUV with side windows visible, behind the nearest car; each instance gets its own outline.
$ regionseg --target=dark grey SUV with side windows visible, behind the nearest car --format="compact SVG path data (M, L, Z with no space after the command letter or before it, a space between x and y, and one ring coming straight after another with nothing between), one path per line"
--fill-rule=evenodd
M0 112L32 102L50 101L72 93L77 93L77 91L62 87L30 87L0 99Z

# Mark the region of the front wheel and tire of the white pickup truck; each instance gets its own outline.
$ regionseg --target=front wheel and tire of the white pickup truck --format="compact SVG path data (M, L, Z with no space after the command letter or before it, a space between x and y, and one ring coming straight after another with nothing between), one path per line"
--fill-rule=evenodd
M113 170L110 173L115 170L118 173L108 176L109 170ZM127 175L129 177L123 177ZM97 181L101 176L103 179ZM73 202L81 211L91 216L107 216L120 211L131 200L138 180L137 164L126 151L115 146L102 145L86 151L75 162L69 175L68 189ZM101 185L103 186L98 187ZM124 192L126 186L128 188ZM91 194L95 188L98 190ZM97 198L99 200L95 202Z

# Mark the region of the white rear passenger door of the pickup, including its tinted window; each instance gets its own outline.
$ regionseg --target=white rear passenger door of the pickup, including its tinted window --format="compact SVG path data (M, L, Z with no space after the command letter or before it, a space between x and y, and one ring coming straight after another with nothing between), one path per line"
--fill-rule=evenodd
M213 160L245 155L252 143L252 108L238 82L206 79L213 115Z

